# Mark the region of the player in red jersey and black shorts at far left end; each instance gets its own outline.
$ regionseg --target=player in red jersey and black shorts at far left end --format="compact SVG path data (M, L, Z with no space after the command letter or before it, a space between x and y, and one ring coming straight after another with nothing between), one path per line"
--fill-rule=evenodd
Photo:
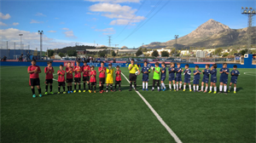
M28 66L27 68L27 72L29 73L29 86L31 86L33 98L37 97L34 89L35 86L37 86L38 88L39 97L43 96L41 94L40 79L38 74L38 73L41 73L41 69L39 66L36 66L36 63L37 63L36 60L32 60L31 62L32 66Z

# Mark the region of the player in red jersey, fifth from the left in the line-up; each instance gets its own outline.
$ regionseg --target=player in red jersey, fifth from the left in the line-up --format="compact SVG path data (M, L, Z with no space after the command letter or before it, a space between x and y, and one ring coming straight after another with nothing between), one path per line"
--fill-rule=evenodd
M81 72L83 72L82 67L80 66L80 61L76 61L77 66L74 66L73 72L75 72L74 76L74 90L73 93L77 92L77 84L79 84L79 93L81 93Z

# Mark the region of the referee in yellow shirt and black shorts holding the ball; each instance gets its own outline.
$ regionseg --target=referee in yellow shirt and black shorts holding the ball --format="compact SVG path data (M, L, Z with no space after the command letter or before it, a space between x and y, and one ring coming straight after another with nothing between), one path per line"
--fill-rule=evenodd
M140 72L140 69L138 68L138 66L134 65L134 60L133 59L131 60L131 64L128 66L128 69L129 69L129 72L130 72L130 75L129 75L130 89L129 89L129 91L131 91L132 82L134 82L134 88L137 91L137 83L136 83L137 76L135 75L135 72L138 72L138 75L140 75L141 72Z

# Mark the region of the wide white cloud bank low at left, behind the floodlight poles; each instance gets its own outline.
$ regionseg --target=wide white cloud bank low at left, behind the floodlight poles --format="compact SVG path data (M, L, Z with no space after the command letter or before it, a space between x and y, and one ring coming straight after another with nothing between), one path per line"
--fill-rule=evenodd
M30 43L30 49L40 48L40 36L38 35L38 31L31 32L31 31L21 31L19 29L9 28L0 30L0 48L6 48L6 41L9 41L9 49L15 49L14 43L16 43L16 49L20 49L20 37L19 34L22 33L22 43L24 43L24 47L27 47L27 44ZM66 41L66 40L59 40L54 38L49 38L46 35L43 35L43 50L45 51L47 48L49 49L60 49L67 46L74 46L75 43L79 41ZM83 43L79 42L83 45L94 45L94 43Z

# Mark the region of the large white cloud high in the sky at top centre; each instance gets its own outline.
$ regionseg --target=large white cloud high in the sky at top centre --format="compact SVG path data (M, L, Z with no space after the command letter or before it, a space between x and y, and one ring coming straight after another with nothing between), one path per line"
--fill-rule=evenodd
M102 16L108 17L109 19L117 19L111 21L110 25L125 25L133 19L131 20L130 25L134 26L134 23L145 19L144 16L137 16L135 14L137 9L132 9L129 6L121 6L120 4L96 3L90 6L90 11L102 12Z

